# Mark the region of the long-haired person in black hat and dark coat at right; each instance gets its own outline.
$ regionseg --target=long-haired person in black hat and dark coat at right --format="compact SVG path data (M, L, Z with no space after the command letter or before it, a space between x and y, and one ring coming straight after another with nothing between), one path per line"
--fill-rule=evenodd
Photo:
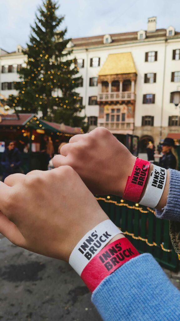
M165 169L176 169L177 168L177 157L175 152L175 143L173 138L165 138L162 143L163 156L160 159L160 166Z

